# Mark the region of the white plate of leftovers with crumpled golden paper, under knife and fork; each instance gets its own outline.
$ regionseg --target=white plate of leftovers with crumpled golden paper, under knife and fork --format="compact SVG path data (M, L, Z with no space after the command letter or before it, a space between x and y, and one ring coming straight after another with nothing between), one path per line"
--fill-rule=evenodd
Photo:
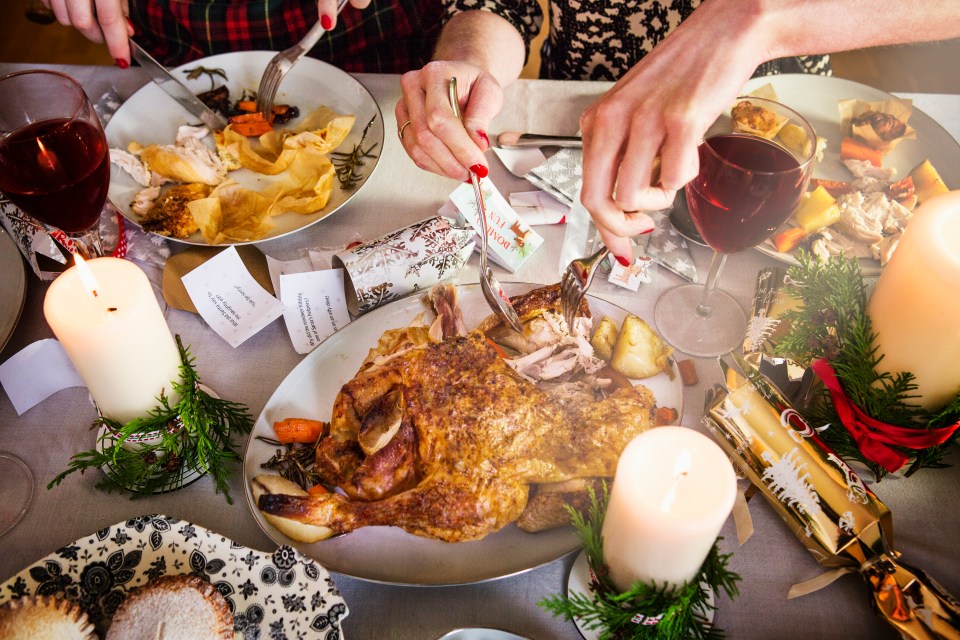
M223 132L154 83L124 102L105 131L110 201L148 231L187 244L246 244L294 233L331 215L373 173L383 117L350 74L304 58L284 77L272 122L255 111L274 53L226 53L171 73L221 113Z

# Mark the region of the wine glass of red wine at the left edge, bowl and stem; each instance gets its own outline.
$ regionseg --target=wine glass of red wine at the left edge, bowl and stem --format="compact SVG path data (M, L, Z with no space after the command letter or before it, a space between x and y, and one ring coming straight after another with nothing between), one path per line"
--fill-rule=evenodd
M76 80L44 70L0 78L0 191L11 202L92 257L103 253L109 186L107 139Z

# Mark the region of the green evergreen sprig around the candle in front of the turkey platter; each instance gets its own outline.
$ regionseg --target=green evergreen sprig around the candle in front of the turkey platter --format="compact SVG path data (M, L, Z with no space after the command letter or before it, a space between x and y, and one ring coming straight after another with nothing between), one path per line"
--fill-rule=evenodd
M607 487L603 499L590 489L590 507L587 516L567 507L571 521L593 572L591 595L573 593L569 597L552 595L537 604L554 616L566 620L578 619L585 628L598 630L602 640L679 640L700 638L716 640L723 632L703 617L703 612L715 608L709 602L705 585L722 589L728 597L738 593L740 576L727 567L730 554L721 554L714 543L700 572L690 582L677 589L670 585L635 583L620 593L610 580L603 561L603 519L609 501ZM638 624L635 618L659 616L655 625Z

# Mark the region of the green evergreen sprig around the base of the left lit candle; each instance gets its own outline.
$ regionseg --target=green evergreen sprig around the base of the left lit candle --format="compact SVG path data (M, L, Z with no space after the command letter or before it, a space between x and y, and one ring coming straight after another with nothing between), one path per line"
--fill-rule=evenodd
M169 396L161 392L157 406L146 416L126 424L99 417L93 427L106 429L98 446L74 455L47 489L75 471L83 474L88 469L103 469L98 489L108 493L132 491L130 497L134 499L176 489L190 472L209 473L216 492L222 492L233 504L229 465L239 462L241 456L233 448L231 434L249 433L253 420L244 405L215 398L203 390L193 356L180 336L176 339L181 380L171 384L179 401L171 405ZM158 442L139 445L135 450L122 446L134 436L154 432L160 433Z

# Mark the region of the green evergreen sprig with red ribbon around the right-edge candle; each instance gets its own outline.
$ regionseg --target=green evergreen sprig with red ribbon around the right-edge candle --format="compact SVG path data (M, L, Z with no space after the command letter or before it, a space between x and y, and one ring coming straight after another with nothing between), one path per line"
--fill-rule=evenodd
M799 265L788 272L788 291L803 306L783 314L790 327L775 345L774 354L808 366L827 359L847 397L865 413L887 424L927 429L954 424L960 419L960 395L938 414L912 403L917 398L914 375L908 371L879 372L883 354L876 346L876 332L867 315L867 288L856 259L834 256L820 260L800 252ZM841 425L829 391L821 388L809 407L810 418L837 425L820 432L823 440L846 460L856 460L873 471L877 480L887 471L868 460L850 433ZM923 468L941 468L946 443L922 450L901 449L911 458L905 475Z

